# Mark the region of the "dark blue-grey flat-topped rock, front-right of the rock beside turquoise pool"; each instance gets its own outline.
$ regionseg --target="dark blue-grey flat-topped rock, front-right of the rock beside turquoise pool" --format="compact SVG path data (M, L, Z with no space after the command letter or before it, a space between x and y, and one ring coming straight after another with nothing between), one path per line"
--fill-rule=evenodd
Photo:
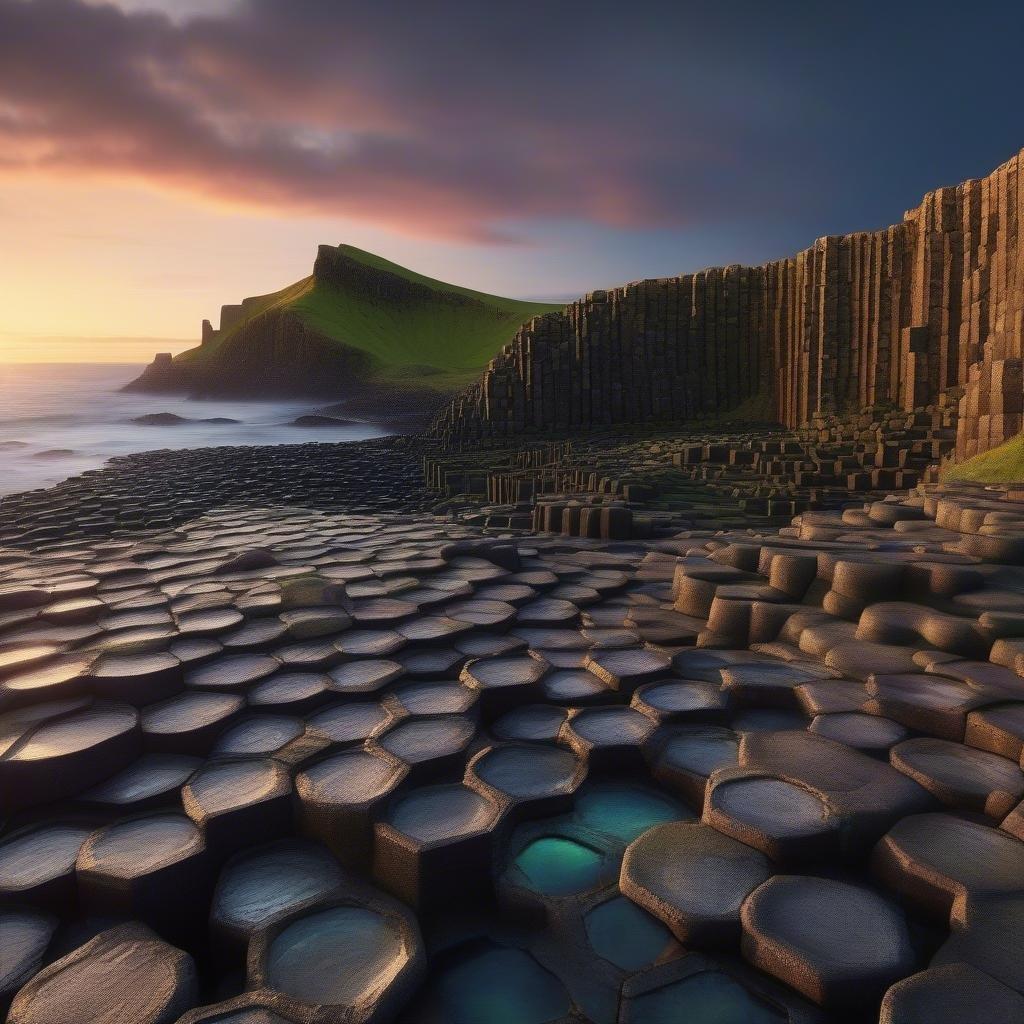
M743 956L823 1007L870 1007L918 967L902 911L870 889L769 879L740 911Z

